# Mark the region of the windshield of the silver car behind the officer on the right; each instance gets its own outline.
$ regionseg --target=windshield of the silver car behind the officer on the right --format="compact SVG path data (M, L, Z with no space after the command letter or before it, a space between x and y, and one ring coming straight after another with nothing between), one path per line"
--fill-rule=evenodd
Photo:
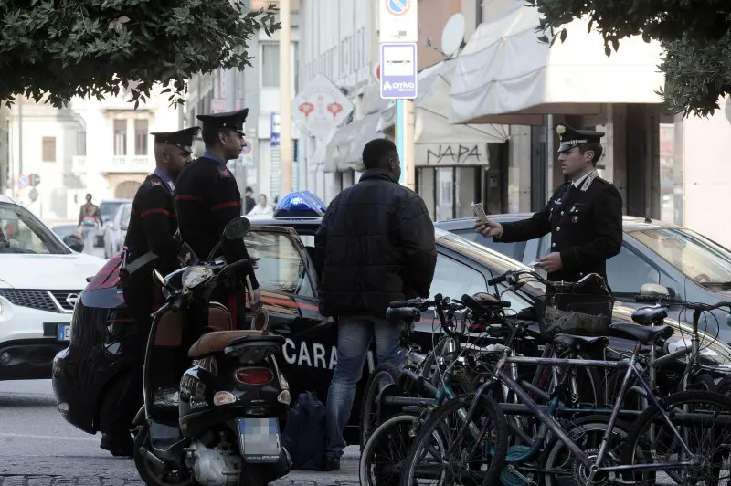
M662 227L630 236L702 285L731 284L731 252L690 229Z

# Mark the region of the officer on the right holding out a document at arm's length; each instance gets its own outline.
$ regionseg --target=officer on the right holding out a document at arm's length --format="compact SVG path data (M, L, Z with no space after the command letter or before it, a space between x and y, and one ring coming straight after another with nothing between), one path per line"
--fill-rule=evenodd
M523 221L478 220L475 229L496 242L527 241L551 233L551 253L537 259L548 280L578 281L588 273L607 278L608 259L622 244L622 199L617 188L597 174L604 132L556 126L561 141L558 162L569 181L558 186L546 207ZM609 282L608 282L609 284ZM600 293L588 285L581 293Z

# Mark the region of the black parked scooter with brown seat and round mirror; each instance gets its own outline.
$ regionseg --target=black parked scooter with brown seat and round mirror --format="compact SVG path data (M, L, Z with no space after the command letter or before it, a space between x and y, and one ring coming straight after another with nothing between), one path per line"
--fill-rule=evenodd
M231 221L218 247L249 227L246 218ZM281 446L291 396L276 360L289 330L268 329L266 310L252 330L234 330L210 297L246 260L227 265L215 253L166 277L155 272L165 303L153 314L144 407L134 420L134 463L148 485L260 486L291 468Z

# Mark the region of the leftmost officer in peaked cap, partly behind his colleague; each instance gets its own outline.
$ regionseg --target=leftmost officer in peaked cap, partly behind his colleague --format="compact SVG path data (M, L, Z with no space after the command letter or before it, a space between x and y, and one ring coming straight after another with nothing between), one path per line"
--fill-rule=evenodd
M128 374L115 382L100 413L101 448L115 456L132 456L130 430L134 415L143 403L143 360L150 314L162 301L152 272L157 269L165 275L178 268L176 256L181 242L175 238L173 191L178 174L191 158L193 137L199 130L191 127L178 132L151 133L157 167L132 200L120 278L124 303L134 326L129 326L131 332L119 348L119 353L132 366Z

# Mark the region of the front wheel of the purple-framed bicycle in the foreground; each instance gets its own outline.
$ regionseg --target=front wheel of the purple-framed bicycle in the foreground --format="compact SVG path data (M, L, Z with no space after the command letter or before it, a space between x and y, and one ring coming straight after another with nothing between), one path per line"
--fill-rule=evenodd
M481 396L466 434L460 431L474 395L463 395L437 408L418 428L404 461L401 486L435 479L440 484L499 484L508 447L503 410Z

